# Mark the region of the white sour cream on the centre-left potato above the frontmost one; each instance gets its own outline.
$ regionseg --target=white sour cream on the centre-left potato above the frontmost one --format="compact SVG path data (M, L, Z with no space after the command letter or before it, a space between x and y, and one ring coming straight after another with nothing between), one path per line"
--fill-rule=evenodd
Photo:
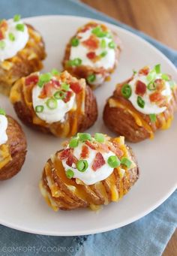
M51 110L46 106L46 101L48 98L38 98L41 90L42 88L40 88L39 86L34 86L34 89L32 90L32 104L34 109L37 106L43 106L43 112L36 113L36 115L47 123L64 122L65 114L75 107L75 93L71 96L70 101L68 101L67 103L65 103L61 99L58 99L57 107L54 110Z

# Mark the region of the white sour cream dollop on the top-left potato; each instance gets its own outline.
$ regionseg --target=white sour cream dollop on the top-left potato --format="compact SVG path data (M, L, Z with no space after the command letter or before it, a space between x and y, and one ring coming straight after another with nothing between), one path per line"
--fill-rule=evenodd
M24 24L22 20L14 22L13 20L7 20L7 31L5 32L5 48L0 48L0 61L3 62L5 59L10 59L22 50L28 42L28 28L24 25L24 32L17 30L17 24ZM10 41L9 34L13 33L15 40Z

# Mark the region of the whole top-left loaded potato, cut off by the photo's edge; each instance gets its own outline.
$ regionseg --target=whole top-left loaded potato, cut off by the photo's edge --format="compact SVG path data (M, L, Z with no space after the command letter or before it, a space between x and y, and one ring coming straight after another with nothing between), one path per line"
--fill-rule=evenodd
M0 93L9 95L14 82L43 68L45 47L41 35L16 15L0 22Z

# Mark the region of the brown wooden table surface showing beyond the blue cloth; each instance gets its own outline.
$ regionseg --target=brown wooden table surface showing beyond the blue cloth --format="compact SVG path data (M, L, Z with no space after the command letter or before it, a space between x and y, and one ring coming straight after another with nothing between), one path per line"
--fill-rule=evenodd
M177 0L81 1L177 50ZM177 230L163 252L163 256L176 255Z

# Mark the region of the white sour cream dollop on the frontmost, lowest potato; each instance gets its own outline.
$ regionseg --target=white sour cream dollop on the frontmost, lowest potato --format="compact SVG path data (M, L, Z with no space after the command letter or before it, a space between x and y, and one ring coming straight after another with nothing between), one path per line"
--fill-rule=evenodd
M77 148L74 149L74 156L76 156L77 159L80 159L82 146L83 146L83 143L80 142ZM92 184L95 184L96 182L100 182L101 180L107 179L107 177L110 176L110 174L113 173L113 170L114 170L114 168L110 167L110 165L107 164L107 160L111 155L115 155L115 154L112 151L108 153L107 152L101 153L101 155L103 155L104 157L105 164L102 167L100 167L98 170L93 170L92 164L94 163L95 156L97 153L98 153L97 150L89 148L89 158L85 159L88 162L89 167L85 172L80 172L79 170L77 170L77 167L75 164L73 164L72 167L68 166L68 164L66 164L66 160L62 160L62 164L65 168L65 171L67 171L68 169L73 170L74 178L82 180L86 185L92 185Z

